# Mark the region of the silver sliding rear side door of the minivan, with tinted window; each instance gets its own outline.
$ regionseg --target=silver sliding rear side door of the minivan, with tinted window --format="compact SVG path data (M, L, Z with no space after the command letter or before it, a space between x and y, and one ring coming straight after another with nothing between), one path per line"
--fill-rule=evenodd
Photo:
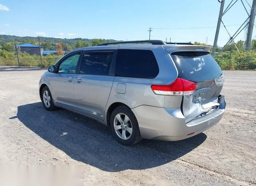
M74 90L76 111L104 120L104 111L114 81L114 50L84 51Z

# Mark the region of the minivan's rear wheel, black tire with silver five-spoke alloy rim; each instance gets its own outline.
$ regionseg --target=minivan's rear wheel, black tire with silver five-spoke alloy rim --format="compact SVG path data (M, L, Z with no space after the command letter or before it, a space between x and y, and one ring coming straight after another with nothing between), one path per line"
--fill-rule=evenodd
M110 116L110 127L115 139L122 145L136 144L141 140L138 121L126 106L114 109Z

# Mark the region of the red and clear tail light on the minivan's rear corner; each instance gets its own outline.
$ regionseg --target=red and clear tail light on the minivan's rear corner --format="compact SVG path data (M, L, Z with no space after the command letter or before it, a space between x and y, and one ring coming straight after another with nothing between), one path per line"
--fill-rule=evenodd
M159 95L190 95L196 90L196 83L177 78L170 85L151 85L151 89Z

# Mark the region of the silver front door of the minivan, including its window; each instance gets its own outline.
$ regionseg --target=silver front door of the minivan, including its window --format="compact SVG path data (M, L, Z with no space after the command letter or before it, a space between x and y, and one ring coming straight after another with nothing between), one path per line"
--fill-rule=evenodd
M74 96L74 79L78 70L78 61L81 52L75 52L58 63L58 72L50 77L53 89L53 99L57 106L75 110L76 100Z

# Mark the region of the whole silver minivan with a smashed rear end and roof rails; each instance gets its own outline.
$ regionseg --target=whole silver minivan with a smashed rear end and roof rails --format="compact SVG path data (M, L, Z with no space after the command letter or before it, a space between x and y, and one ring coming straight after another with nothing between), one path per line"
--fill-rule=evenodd
M182 140L224 113L224 74L210 47L144 40L84 47L49 66L44 108L62 107L110 126L115 139Z

